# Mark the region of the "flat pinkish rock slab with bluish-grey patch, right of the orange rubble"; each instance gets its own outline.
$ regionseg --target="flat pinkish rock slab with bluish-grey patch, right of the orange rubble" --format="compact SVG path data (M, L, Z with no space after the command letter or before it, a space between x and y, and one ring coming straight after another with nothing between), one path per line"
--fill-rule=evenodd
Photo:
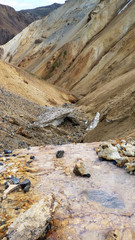
M22 156L35 156L27 196L43 199L53 194L58 203L47 240L135 239L134 176L111 162L99 161L98 146L99 143L50 145L20 151ZM56 158L57 151L64 151L62 158ZM79 160L89 168L90 178L73 173Z

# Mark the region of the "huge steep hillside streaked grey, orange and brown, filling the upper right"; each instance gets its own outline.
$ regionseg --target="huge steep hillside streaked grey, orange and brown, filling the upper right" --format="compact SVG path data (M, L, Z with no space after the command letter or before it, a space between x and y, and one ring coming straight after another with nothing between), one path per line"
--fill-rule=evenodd
M135 126L135 1L67 1L1 47L2 58L69 90L98 127L84 141Z

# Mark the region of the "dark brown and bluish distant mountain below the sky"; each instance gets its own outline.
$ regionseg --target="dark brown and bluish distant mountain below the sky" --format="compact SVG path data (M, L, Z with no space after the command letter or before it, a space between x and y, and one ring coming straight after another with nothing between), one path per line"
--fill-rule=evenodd
M5 44L33 21L46 16L60 4L15 11L14 8L0 4L0 44Z

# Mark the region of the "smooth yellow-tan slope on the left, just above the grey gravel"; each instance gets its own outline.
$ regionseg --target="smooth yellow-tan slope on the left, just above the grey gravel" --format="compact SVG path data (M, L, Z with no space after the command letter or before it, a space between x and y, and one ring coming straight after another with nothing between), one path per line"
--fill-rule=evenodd
M44 80L0 60L0 87L39 105L61 105L74 98Z

